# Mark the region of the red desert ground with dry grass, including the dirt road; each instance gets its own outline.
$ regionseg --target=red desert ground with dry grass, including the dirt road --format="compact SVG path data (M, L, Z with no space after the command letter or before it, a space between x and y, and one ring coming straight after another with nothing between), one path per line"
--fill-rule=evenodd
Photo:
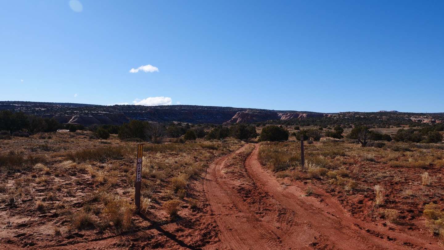
M147 143L138 212L137 142L90 133L1 141L1 249L443 248L442 144Z

